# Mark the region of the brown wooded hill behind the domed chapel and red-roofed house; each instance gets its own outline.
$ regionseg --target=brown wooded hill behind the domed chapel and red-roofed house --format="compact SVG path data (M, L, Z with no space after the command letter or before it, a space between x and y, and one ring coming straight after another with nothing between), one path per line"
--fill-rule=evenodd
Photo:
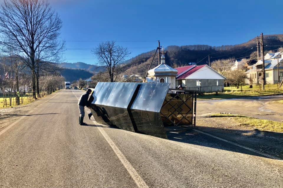
M266 46L267 45L267 46ZM283 34L265 35L264 51L271 51L283 46ZM218 59L227 58L249 58L251 53L256 53L256 38L246 43L238 45L226 46L209 46L209 45L187 45L187 46L167 46L165 61L170 66L187 65L190 62L203 65L208 62L208 54L210 54L210 62ZM130 60L126 61L124 66L124 74L138 74L143 76L152 61L154 51L142 53ZM158 59L155 58L152 68L158 65Z

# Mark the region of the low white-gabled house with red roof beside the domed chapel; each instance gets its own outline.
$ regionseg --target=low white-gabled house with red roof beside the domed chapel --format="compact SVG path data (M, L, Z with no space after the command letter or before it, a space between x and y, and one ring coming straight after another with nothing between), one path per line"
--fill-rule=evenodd
M200 92L221 92L224 89L226 78L207 65L190 65L175 69L178 71L176 85L182 85L183 89Z

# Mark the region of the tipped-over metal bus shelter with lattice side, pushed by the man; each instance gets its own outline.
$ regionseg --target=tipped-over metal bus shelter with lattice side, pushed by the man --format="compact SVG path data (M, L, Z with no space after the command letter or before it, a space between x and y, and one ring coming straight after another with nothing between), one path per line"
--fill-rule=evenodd
M99 82L92 96L96 122L167 138L164 127L195 127L196 92L178 94L170 83Z

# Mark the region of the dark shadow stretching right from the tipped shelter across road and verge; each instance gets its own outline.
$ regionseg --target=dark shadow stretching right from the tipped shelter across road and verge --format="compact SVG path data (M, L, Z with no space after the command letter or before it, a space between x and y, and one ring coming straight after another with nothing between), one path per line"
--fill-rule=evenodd
M198 127L198 130L283 160L283 133L260 131L258 129L230 130L213 127ZM185 132L178 132L175 130L167 132L167 136L169 140L177 142L271 158L194 130L188 130Z

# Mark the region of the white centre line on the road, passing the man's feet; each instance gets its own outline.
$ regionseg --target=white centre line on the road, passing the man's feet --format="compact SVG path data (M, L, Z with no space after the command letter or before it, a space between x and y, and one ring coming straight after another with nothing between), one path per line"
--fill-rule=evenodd
M72 91L73 92L73 91ZM75 93L73 92L75 95ZM75 95L75 97L79 100L79 98ZM86 110L88 112L88 110ZM133 178L134 182L138 187L141 188L149 188L144 182L144 180L139 176L139 173L136 172L136 169L131 165L131 163L126 159L126 157L123 155L123 153L119 150L119 148L115 145L115 143L111 140L111 138L107 135L107 133L103 130L102 127L97 127L98 130L101 132L105 140L108 142L108 144L111 146L114 153L117 155L118 159L121 161L121 163L124 165L126 170L129 172L131 177Z

